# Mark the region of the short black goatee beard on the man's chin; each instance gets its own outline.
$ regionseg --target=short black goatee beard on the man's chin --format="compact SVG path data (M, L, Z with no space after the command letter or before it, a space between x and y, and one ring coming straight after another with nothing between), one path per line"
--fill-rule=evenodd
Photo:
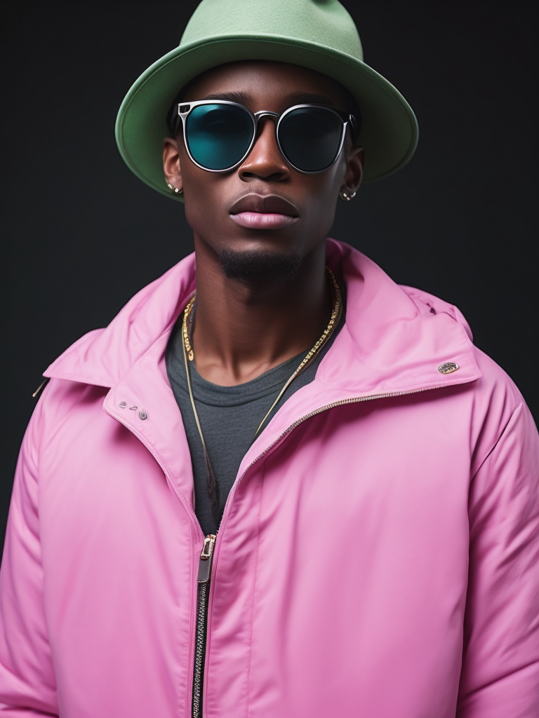
M224 249L219 260L229 279L264 284L287 284L298 275L301 265L297 254L232 249Z

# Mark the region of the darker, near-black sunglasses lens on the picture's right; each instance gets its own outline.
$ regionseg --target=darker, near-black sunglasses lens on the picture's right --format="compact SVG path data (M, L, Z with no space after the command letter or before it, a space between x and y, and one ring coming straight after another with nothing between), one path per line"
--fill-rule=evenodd
M341 146L341 118L323 108L292 110L279 126L279 142L290 164L303 172L321 172L336 159Z

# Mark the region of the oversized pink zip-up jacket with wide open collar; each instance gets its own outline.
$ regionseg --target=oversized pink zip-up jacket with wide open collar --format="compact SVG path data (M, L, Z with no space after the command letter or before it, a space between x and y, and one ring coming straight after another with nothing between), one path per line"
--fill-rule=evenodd
M328 264L346 325L218 532L204 716L535 717L530 413L455 307L346 244ZM164 355L194 281L190 256L45 373L1 571L1 715L190 716L203 534Z

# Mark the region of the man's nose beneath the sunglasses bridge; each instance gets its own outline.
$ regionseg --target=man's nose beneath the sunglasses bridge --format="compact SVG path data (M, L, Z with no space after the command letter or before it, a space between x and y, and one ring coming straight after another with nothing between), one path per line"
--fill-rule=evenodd
M282 157L277 144L274 118L259 118L257 139L244 162L238 167L238 173L244 182L248 182L252 177L263 177L264 180L277 182L290 177L290 166Z

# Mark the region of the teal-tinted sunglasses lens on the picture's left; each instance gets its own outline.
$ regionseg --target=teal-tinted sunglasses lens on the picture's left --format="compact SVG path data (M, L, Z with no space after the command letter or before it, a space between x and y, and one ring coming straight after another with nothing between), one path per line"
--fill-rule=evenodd
M236 105L199 105L187 117L189 151L206 169L228 169L240 161L253 137L249 113Z

